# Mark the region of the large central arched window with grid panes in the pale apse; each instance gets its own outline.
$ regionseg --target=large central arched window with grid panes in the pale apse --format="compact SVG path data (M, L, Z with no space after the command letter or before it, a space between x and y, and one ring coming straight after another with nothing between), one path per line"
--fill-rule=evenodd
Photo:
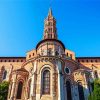
M50 94L50 71L45 70L43 72L43 84L42 84L42 93Z

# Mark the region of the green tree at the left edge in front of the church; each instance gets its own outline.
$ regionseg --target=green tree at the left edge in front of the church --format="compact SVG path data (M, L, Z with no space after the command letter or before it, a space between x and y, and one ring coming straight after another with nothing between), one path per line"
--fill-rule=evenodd
M3 81L0 83L0 100L7 100L9 83Z

